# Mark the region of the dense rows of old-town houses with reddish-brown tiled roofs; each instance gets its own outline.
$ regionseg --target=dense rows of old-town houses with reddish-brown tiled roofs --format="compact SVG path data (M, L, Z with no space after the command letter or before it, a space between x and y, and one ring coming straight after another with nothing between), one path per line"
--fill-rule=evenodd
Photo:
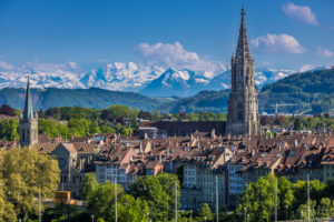
M334 137L285 133L222 137L194 132L188 137L122 137L95 134L71 141L39 135L33 145L55 155L60 173L59 190L80 198L85 173L98 182L117 182L128 189L139 176L160 172L178 174L183 209L208 203L235 206L239 194L259 176L275 173L289 181L334 180Z

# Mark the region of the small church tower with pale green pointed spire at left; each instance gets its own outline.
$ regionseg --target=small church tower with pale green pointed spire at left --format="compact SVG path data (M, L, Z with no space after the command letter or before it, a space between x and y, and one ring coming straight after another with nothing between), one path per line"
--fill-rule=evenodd
M20 115L19 123L20 147L31 147L38 142L38 115L32 112L32 101L29 87L29 78L27 83L26 103L23 114Z

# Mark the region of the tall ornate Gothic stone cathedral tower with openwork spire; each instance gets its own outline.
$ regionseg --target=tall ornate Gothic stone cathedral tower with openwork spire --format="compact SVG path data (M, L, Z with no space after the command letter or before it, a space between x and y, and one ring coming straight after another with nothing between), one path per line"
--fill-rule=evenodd
M257 93L254 84L254 60L249 51L245 11L242 9L236 54L232 57L232 85L228 98L226 133L232 135L261 133Z

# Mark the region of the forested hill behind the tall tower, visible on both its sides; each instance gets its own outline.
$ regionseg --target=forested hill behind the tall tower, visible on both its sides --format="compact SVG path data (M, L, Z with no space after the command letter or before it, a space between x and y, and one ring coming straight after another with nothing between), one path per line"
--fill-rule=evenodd
M227 112L228 91L203 91L158 109L169 112ZM334 112L334 69L292 74L265 85L258 93L259 113L323 113Z

